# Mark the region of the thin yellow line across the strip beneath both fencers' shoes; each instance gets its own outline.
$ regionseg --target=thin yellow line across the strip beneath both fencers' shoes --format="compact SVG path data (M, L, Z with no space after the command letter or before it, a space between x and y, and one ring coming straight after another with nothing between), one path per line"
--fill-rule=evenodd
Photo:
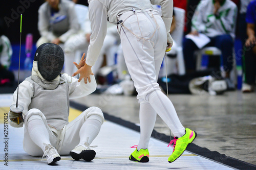
M181 156L197 156L195 154L183 154ZM169 157L169 155L151 155L151 158L153 157ZM122 159L122 158L127 158L127 156L116 156L116 157L95 157L94 159ZM19 161L40 161L40 159L9 159L8 161L12 162L19 162ZM46 158L42 159L46 160ZM72 158L61 158L61 160L73 160ZM5 160L0 160L0 162L4 162Z

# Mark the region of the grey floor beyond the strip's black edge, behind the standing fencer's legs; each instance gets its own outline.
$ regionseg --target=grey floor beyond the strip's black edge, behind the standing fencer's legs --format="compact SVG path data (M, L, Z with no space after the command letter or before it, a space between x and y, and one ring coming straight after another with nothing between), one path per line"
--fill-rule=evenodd
M169 99L183 126L197 131L195 144L256 165L255 94L241 91L217 96L169 94ZM98 106L105 113L139 124L139 104L135 96L91 94L73 101ZM155 130L170 134L160 117Z

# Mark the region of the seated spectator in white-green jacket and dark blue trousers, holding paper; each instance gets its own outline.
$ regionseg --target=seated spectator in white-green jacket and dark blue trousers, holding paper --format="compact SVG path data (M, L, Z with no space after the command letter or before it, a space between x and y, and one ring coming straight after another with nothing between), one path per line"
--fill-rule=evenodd
M230 0L201 1L191 20L189 34L198 36L200 33L209 37L205 46L216 46L221 50L223 69L229 89L234 89L230 81L230 71L233 66L233 45L237 20L237 6ZM202 40L203 41L203 40ZM196 69L194 52L199 47L191 39L183 41L183 55L187 72Z

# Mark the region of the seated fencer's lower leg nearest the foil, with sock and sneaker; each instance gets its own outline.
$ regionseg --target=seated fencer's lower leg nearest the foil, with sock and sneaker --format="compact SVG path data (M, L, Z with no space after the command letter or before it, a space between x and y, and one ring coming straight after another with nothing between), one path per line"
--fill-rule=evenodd
M33 111L35 114L32 113ZM44 152L43 157L47 157L47 163L53 164L54 162L60 160L60 155L58 154L57 150L51 145L50 136L46 124L44 123L44 120L40 113L36 113L38 111L39 110L37 109L30 110L28 114L29 118L25 119L25 128L28 131L30 139L38 147L41 148L42 152Z

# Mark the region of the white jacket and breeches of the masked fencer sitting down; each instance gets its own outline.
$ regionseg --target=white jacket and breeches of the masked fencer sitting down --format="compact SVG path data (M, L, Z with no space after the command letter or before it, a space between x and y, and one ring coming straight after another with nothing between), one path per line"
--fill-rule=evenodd
M33 68L35 67L33 63ZM35 72L32 71L32 76ZM91 83L78 83L78 79L63 74L59 78L55 89L44 89L34 82L31 77L19 84L19 105L24 107L24 150L32 156L42 156L44 152L31 139L28 123L34 119L44 122L49 133L49 139L60 155L67 155L79 143L79 131L90 116L101 124L104 117L97 107L90 107L83 111L71 123L68 122L69 99L80 98L92 93L96 89L96 81L91 76ZM16 103L17 90L13 94L13 104ZM10 125L13 123L10 122ZM40 133L40 132L38 132ZM42 143L40 143L42 144Z

